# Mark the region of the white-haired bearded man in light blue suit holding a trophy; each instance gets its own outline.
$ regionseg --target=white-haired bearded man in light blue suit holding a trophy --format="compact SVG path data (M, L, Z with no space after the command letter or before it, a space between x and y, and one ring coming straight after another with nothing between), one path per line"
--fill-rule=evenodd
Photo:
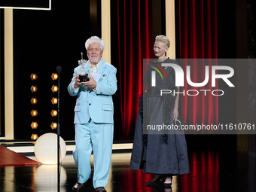
M75 143L73 151L78 166L78 181L72 187L79 191L90 178L90 156L93 150L93 187L103 192L108 182L114 129L114 107L111 95L117 90L117 69L102 59L105 42L93 36L85 43L89 60L84 68L90 81L80 82L82 66L74 70L68 90L77 96L75 105Z

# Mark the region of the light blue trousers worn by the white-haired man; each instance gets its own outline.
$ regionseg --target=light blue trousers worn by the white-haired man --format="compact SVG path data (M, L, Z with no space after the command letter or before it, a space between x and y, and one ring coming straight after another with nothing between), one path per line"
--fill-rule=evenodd
M78 182L86 182L91 175L90 156L93 150L93 187L105 187L111 166L114 124L75 124L73 156L78 166Z

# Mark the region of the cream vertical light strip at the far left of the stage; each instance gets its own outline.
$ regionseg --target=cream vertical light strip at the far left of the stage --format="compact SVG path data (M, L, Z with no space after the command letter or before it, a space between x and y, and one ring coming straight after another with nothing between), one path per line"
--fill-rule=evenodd
M13 10L5 9L5 139L14 139Z

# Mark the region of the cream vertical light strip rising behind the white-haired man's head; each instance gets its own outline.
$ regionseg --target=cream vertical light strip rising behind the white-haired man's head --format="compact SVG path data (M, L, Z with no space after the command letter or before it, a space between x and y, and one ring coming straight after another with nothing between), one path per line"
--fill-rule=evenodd
M111 63L110 0L102 0L102 39L105 41L103 59Z

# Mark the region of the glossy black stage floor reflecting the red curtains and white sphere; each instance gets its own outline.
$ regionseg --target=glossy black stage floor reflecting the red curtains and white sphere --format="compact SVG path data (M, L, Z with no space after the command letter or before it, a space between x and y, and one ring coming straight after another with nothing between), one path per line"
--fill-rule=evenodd
M175 176L172 188L145 187L152 175L131 170L131 153L112 154L111 173L105 187L108 192L136 191L256 191L256 157L227 149L189 151L190 174ZM37 160L36 157L29 157ZM91 157L93 164L93 157ZM60 191L72 191L77 181L77 167L71 154L62 160ZM1 166L0 191L57 191L57 166ZM90 182L84 191L94 191Z

